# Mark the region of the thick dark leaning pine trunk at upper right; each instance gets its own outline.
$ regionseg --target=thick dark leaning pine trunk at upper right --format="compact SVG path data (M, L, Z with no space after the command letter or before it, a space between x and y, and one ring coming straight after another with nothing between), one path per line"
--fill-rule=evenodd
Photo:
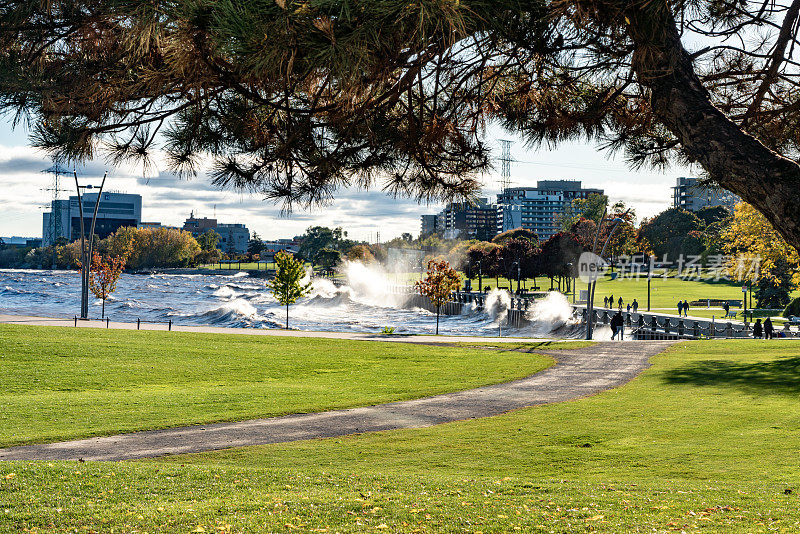
M722 187L752 204L800 247L800 165L770 150L717 109L694 71L665 2L627 14L633 70L656 116Z

